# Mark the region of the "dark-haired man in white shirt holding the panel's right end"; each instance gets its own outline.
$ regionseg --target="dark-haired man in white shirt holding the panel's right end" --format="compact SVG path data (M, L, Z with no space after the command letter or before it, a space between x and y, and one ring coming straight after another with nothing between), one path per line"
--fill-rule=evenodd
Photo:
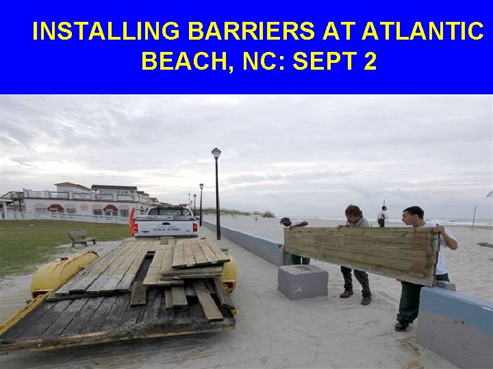
M438 251L438 262L436 267L436 280L447 281L448 274L446 272L446 264L444 257L444 249L456 250L459 247L457 238L455 238L450 230L445 226L439 226L436 223L427 222L424 219L425 211L419 206L409 206L403 210L402 221L406 226L413 227L429 227L433 228L433 232L440 232L440 250ZM410 282L401 281L402 292L401 301L399 303L399 313L397 314L397 323L394 329L398 332L403 332L407 326L413 323L418 317L421 285Z

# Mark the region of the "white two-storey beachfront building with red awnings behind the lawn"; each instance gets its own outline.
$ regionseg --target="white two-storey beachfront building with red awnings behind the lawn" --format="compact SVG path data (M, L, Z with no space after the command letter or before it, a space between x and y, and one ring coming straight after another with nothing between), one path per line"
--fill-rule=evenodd
M23 190L23 210L32 213L68 213L129 217L132 208L144 214L149 194L135 186L93 184L91 188L71 182L55 183L56 191Z

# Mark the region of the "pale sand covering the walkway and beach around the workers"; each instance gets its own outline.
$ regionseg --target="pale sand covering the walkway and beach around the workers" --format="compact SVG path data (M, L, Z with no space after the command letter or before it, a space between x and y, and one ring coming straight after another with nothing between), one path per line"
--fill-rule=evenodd
M451 281L460 292L492 301L493 249L477 245L492 243L491 228L451 229L459 239L457 251L446 250ZM201 236L215 240L205 228ZM238 264L233 299L240 316L233 331L12 353L0 357L0 367L455 368L414 343L416 323L406 332L394 331L401 292L394 279L370 274L373 301L362 306L356 281L355 294L340 299L339 267L314 260L329 273L329 295L290 301L277 291L277 267L225 238L217 242L229 248ZM16 289L25 288L28 279L18 280ZM1 295L4 290L2 286Z

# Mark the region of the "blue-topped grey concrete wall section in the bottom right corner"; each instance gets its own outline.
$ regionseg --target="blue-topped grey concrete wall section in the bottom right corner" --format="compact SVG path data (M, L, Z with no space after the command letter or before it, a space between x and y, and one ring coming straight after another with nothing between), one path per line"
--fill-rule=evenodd
M493 303L423 287L416 343L460 368L492 368Z

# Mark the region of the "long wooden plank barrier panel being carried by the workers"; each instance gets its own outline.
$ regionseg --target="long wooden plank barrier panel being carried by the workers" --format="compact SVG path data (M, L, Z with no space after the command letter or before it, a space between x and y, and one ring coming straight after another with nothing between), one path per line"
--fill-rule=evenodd
M286 228L284 251L433 286L439 234L431 228Z

